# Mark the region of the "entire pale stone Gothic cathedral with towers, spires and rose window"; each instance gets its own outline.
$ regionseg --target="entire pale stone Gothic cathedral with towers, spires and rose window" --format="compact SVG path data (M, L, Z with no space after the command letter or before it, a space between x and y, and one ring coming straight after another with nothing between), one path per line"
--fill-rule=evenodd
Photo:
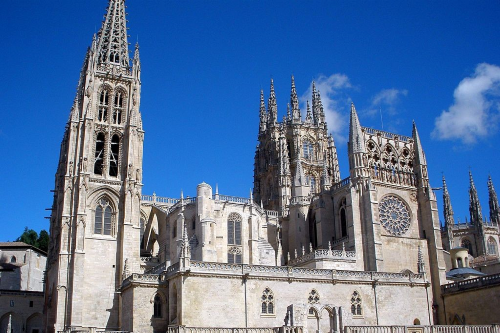
M453 247L476 228L472 253L484 253L489 225L476 214L457 227L450 204L441 230L415 124L411 136L363 127L352 104L342 178L320 91L301 110L292 77L280 121L271 80L248 198L206 183L196 197L145 195L141 61L137 44L129 59L125 15L124 0L109 1L61 143L47 333L445 322L442 235Z

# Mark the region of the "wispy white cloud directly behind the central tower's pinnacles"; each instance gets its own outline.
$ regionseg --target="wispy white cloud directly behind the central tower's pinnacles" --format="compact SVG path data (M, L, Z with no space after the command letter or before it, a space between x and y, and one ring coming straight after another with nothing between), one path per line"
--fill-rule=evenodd
M349 78L344 74L332 74L330 76L319 75L314 79L316 90L320 92L321 102L325 110L325 118L328 130L334 134L336 141L343 142L346 138L343 132L347 128L346 108L350 105L350 98L344 93L346 89L352 88ZM306 114L306 101L311 103L312 83L305 93L299 97L302 116Z

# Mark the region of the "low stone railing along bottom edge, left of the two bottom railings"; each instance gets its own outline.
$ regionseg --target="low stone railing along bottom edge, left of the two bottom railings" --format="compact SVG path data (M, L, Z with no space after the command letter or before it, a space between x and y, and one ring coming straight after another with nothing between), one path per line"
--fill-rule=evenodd
M302 333L302 326L282 327L186 327L169 326L167 333Z

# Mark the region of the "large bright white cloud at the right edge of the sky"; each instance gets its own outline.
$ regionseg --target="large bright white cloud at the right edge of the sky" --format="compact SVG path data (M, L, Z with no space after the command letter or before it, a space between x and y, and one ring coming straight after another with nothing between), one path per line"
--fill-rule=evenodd
M432 137L473 144L491 134L499 120L500 67L482 63L453 92L454 103L435 120Z

